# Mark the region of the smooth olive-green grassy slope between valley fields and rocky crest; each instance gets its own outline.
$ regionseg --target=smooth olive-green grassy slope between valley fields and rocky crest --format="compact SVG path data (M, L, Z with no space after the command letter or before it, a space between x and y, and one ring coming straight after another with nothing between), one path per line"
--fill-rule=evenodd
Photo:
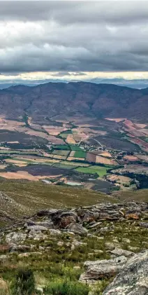
M1 210L11 217L33 214L47 208L76 207L94 205L98 202L117 200L95 191L67 186L52 186L43 181L27 181L15 179L0 179L1 193L10 197L6 203L1 200ZM1 220L1 219L0 219Z

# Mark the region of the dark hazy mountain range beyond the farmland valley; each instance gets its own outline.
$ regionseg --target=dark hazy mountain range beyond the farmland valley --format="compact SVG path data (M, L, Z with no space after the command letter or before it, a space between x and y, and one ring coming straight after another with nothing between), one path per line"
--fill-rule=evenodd
M135 89L87 82L15 85L0 90L1 114L38 120L56 115L126 117L147 121L148 88Z

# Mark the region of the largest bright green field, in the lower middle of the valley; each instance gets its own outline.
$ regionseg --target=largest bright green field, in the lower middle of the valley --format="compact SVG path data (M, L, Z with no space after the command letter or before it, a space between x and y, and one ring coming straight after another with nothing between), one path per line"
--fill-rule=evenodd
M102 166L89 166L89 167L78 167L75 169L77 172L88 173L88 174L98 174L98 176L103 177L107 174L107 167Z

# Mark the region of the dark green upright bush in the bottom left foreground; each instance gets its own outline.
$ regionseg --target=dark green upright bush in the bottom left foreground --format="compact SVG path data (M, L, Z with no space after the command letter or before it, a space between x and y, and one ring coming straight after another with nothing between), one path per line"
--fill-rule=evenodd
M32 295L35 290L34 273L29 269L20 269L11 285L12 295Z

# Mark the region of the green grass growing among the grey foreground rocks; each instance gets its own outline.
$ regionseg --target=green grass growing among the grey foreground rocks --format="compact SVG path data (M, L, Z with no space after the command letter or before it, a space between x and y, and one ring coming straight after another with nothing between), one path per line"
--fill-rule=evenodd
M145 218L148 219L147 214ZM134 247L134 252L148 249L147 228L140 228L138 223L139 221L135 220L109 221L104 219L98 226L98 231L90 231L92 236L75 235L73 237L69 233L62 233L56 238L46 232L47 237L40 241L28 238L24 241L24 245L32 246L34 252L41 251L40 247L43 247L42 254L31 254L23 258L19 257L18 253L10 254L10 260L1 263L1 277L7 282L12 282L15 279L15 273L17 274L19 268L23 267L27 268L30 274L34 272L35 283L43 287L45 295L85 295L88 289L85 289L84 284L77 282L80 274L84 272L83 263L87 260L110 259L108 248L105 246L107 242L112 242L117 247L129 251L131 247ZM110 228L110 226L112 230L105 230L104 233L99 231L101 228ZM18 231L22 229L18 228ZM58 245L59 239L62 246ZM71 249L74 240L83 244ZM0 254L3 252L0 251ZM32 275L31 277L33 278ZM102 280L95 285L94 295L101 295L112 279L113 277L109 280L102 277ZM30 281L33 282L34 287L34 280ZM23 281L22 286L24 283L26 285Z

